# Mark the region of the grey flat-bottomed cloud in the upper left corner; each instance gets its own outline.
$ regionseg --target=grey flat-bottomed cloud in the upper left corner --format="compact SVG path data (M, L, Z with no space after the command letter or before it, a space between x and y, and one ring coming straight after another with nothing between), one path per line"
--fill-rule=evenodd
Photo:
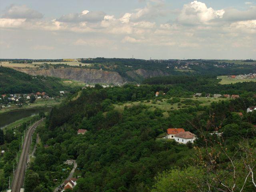
M42 17L43 17L42 13L36 10L30 9L26 5L18 6L14 4L9 6L6 9L4 15L2 16L2 18L15 18L15 19L18 19L18 18L40 19Z

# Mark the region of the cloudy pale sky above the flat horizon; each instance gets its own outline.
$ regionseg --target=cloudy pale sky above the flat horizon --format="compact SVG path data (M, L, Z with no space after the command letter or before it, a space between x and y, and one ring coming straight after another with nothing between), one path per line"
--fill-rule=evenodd
M0 58L256 59L256 0L0 0Z

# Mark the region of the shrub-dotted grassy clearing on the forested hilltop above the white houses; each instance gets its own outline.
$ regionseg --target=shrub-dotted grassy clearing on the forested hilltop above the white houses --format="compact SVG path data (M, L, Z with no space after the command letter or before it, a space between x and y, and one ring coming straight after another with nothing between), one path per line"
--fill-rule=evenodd
M128 102L128 103L125 103L125 104L122 104L122 105L114 104L114 107L115 107L116 110L121 112L121 111L124 110L125 106L127 106L129 108L129 107L132 107L132 106L135 106L135 105L144 104L146 106L149 106L150 110L160 108L161 110L165 111L163 113L164 116L168 116L167 111L177 110L177 109L180 109L182 107L184 108L184 106L186 106L186 105L181 103L184 100L199 101L199 102L202 102L202 104L200 104L201 106L208 106L208 105L210 105L211 102L214 102L214 101L218 102L220 100L227 100L227 98L204 98L204 97L201 97L201 98L195 98L195 97L193 97L193 98L180 98L180 106L179 106L179 103L174 103L174 104L167 103L167 99L162 99L162 101L152 101L152 100L150 100L150 102L147 102L145 100L143 102L140 102L140 101L139 102ZM187 106L189 106L189 105L187 105Z

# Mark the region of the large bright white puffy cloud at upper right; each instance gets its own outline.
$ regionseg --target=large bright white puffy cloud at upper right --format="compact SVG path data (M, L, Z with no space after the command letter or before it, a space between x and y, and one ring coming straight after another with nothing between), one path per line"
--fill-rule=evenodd
M193 1L183 6L177 20L182 24L209 24L214 19L222 18L224 13L223 9L214 10L202 2Z

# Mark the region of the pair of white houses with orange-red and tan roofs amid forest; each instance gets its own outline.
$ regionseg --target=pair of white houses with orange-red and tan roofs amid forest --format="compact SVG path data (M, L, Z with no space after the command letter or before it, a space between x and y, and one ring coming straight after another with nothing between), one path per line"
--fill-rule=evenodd
M196 140L196 135L189 131L185 131L183 128L168 128L167 138L174 139L181 144L187 144L188 142L193 143L194 140Z

